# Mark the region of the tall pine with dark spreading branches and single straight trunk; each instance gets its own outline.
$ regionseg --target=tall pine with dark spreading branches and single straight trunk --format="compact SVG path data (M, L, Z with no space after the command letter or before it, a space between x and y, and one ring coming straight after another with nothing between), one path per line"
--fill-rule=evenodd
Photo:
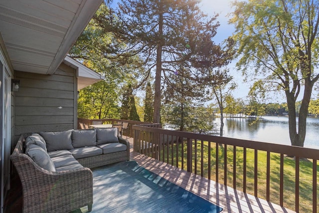
M121 21L111 22L115 16ZM118 39L129 41L126 50L119 54L140 54L145 60L147 72L142 82L156 69L155 123L160 122L161 78L176 72L174 66L181 62L201 67L215 64L212 59L220 58L220 47L212 41L219 25L214 23L216 16L207 18L197 0L123 0L116 15L110 13L108 18L110 24L104 28L116 33Z

